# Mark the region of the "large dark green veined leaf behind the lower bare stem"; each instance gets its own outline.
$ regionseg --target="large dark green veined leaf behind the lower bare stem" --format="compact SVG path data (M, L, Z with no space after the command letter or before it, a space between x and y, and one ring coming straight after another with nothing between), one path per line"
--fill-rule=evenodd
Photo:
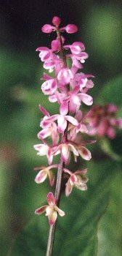
M60 208L65 211L65 217L57 220L54 256L97 254L97 225L106 211L110 178L118 165L113 161L99 164L90 161L88 190L73 189L68 198L62 195ZM17 237L9 255L46 255L48 230L44 215L34 217Z

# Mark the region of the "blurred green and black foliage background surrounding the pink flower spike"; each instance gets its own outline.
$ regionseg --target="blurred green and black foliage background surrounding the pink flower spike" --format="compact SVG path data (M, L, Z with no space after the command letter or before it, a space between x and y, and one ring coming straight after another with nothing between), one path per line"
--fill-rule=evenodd
M65 35L66 44L86 45L84 72L95 75L90 91L94 104L113 102L121 116L121 14L121 1L112 0L0 1L1 256L45 255L47 219L33 213L50 188L48 181L34 182L33 168L46 164L46 158L36 156L33 144L38 143L42 117L38 104L50 114L58 108L40 90L43 68L35 50L49 47L54 38L42 34L41 26L54 15L60 16L62 26L78 26L77 34ZM78 167L89 167L88 190L62 195L66 216L57 222L55 256L121 256L121 131L115 140L99 141L90 150L93 159L78 162Z

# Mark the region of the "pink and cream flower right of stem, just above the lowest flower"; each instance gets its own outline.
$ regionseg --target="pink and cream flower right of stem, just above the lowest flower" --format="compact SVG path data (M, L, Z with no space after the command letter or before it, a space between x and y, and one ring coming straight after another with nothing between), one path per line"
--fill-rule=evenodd
M68 182L65 186L65 195L67 197L72 192L73 187L83 191L87 189L86 182L89 181L85 176L87 169L77 170L75 173L71 173L68 169L64 168L64 171L70 174L70 178L68 178Z

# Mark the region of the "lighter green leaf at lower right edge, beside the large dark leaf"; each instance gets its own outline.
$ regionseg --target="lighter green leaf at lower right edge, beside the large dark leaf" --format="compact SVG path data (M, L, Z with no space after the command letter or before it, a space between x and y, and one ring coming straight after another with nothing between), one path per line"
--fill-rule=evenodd
M110 189L110 202L107 213L102 217L98 227L98 253L97 256L121 256L121 230L122 230L122 173L116 170Z

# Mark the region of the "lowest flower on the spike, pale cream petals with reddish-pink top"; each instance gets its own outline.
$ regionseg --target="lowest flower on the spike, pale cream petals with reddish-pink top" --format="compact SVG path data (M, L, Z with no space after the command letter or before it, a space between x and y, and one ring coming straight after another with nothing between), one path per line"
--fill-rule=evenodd
M49 219L49 225L54 225L57 220L57 213L62 217L65 215L65 212L57 207L56 199L52 192L49 192L47 195L47 203L49 205L41 206L40 208L36 209L35 214L43 214L46 211L46 216Z

